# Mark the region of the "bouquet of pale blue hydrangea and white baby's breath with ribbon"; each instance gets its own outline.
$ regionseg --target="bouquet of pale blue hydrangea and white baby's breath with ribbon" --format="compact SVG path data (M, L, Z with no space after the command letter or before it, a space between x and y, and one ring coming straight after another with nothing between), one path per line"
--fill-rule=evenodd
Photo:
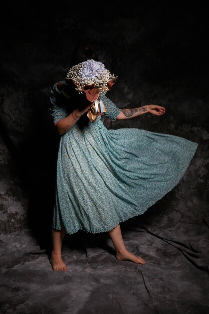
M107 112L99 95L105 95L111 90L117 76L111 74L103 63L90 59L74 65L68 71L66 79L72 80L78 93L86 94L86 98L93 103L87 112L91 122L100 112Z

